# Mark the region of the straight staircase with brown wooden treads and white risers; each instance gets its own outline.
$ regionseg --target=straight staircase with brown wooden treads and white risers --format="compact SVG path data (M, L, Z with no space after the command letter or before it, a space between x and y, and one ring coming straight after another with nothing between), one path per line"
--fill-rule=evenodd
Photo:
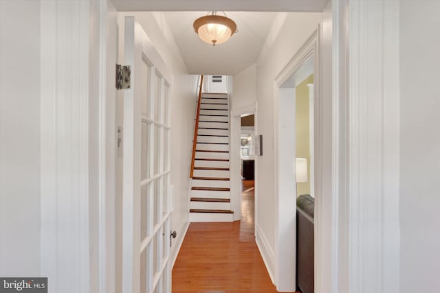
M232 222L227 94L201 95L194 160L190 222Z

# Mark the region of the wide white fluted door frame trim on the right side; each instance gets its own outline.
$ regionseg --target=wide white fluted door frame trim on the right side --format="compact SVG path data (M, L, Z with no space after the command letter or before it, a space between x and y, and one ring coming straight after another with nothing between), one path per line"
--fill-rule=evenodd
M332 3L331 292L399 292L399 1Z

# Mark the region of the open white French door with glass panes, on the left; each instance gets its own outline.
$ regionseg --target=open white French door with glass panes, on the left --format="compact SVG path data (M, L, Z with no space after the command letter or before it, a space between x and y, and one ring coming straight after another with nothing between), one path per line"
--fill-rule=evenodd
M126 16L122 292L171 292L169 71L142 27Z

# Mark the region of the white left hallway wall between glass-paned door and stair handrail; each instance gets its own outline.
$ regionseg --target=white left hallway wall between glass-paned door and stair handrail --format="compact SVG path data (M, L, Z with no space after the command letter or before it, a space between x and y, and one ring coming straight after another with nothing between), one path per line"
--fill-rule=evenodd
M189 220L189 169L192 153L192 137L194 135L197 75L188 75L184 60L181 58L179 49L162 13L118 12L118 25L120 28L123 27L124 16L135 16L135 19L144 28L148 38L151 39L155 49L159 51L162 59L170 71L173 72L173 80L170 80L170 115L171 185L175 187L175 209L171 215L171 229L177 231L177 238L173 239L173 248L171 251L171 259L174 259L177 257L178 245L183 240ZM121 46L119 56L120 62L123 63L123 51ZM119 123L119 126L122 126L122 119ZM117 237L117 239L120 238Z

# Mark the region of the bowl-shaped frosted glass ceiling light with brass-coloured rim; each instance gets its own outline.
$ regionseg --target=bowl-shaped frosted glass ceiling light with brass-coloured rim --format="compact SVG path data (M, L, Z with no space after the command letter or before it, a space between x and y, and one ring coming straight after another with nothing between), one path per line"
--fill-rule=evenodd
M217 15L217 12L196 19L193 26L203 42L214 46L225 43L236 32L234 21L226 16Z

